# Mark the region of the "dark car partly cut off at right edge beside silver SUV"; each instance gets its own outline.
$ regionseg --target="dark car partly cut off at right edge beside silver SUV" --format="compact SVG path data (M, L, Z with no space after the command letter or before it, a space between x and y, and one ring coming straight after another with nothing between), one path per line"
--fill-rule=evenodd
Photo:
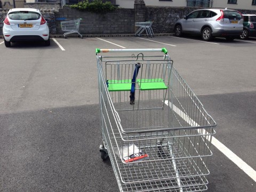
M256 14L243 14L244 17L244 29L240 35L241 39L247 39L249 36L256 37Z

